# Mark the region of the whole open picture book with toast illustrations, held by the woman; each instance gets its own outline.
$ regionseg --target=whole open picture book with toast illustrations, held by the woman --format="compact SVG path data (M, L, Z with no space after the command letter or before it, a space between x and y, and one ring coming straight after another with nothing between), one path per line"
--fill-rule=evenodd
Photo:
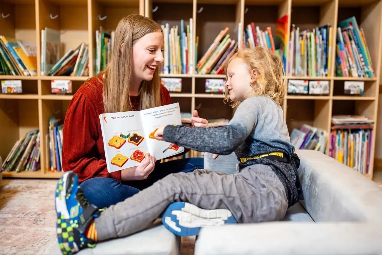
M100 114L99 120L108 172L138 166L147 153L158 161L185 150L154 137L162 125L181 125L179 103L141 111Z

